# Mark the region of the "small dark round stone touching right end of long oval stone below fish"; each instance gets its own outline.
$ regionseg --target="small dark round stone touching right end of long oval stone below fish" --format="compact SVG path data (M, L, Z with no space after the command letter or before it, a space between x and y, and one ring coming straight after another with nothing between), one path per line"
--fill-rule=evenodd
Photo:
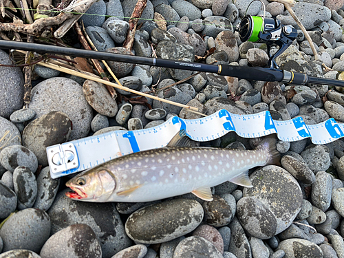
M226 226L232 219L230 205L218 195L213 195L213 201L204 202L204 221L211 226Z

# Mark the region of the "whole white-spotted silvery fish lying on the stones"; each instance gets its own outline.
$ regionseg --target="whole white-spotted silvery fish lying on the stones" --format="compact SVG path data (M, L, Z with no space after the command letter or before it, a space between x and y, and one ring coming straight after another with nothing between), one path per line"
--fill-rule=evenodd
M166 147L124 155L81 172L65 194L84 202L151 202L193 193L212 201L211 187L226 181L252 187L248 170L279 164L276 139L266 137L253 150L190 147L185 130Z

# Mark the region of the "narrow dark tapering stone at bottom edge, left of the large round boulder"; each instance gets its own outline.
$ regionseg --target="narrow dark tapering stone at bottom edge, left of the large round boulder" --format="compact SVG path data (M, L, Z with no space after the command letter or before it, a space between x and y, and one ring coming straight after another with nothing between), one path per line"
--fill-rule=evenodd
M228 251L232 252L236 257L251 257L250 242L248 241L244 228L242 228L237 217L229 225L230 243Z

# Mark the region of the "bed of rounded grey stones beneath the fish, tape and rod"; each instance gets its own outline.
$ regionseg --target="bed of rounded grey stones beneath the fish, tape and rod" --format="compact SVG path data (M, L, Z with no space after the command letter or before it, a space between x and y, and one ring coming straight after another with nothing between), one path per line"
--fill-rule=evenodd
M194 61L216 51L207 63L264 66L266 45L242 43L233 26L250 0L147 1L133 53ZM103 0L83 16L100 51L121 48L135 0ZM299 1L294 12L309 30L322 61L308 41L297 40L277 58L282 69L337 78L344 70L343 0ZM254 2L248 14L262 14ZM266 3L267 16L296 27L280 3ZM161 14L163 23L151 21ZM161 17L160 17L161 19ZM215 25L216 24L216 25ZM233 25L233 26L232 26ZM297 28L297 27L296 27ZM74 36L76 38L76 36ZM74 39L75 40L75 39ZM74 42L76 44L76 42ZM154 52L152 50L152 47ZM10 64L6 52L0 60ZM333 70L323 69L321 64ZM110 62L120 82L148 92L193 72ZM104 85L36 65L29 109L23 107L23 73L0 68L0 257L344 257L344 142L314 145L310 139L277 142L281 166L250 171L253 188L230 182L213 188L214 200L188 194L150 203L87 203L65 196L68 178L50 178L45 148L94 133L160 125L173 115L199 118L181 107L148 100L131 105L109 97ZM122 96L127 92L118 90ZM197 107L210 115L269 110L275 120L301 116L308 125L334 118L344 122L344 94L327 85L296 86L238 80L200 73L158 92L160 98ZM130 98L130 96L127 96ZM229 144L229 145L228 145ZM252 149L255 140L228 133L203 146ZM30 256L31 255L31 256Z

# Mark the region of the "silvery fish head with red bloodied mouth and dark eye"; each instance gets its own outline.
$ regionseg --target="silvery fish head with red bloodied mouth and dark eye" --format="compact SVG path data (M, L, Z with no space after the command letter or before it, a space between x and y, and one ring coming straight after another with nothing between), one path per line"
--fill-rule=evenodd
M73 200L107 202L116 189L116 178L103 166L89 169L66 183L72 191L65 193Z

